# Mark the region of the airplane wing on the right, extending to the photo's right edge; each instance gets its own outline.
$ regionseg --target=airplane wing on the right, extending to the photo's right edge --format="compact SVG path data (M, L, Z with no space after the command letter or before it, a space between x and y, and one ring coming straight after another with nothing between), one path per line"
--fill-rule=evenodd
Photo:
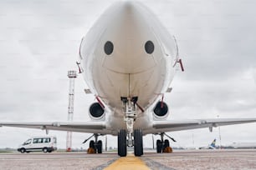
M155 121L151 129L145 129L144 134L149 133L166 133L173 131L182 131L197 128L212 128L219 126L256 122L256 118L215 118L215 119L196 119L196 120L170 120Z

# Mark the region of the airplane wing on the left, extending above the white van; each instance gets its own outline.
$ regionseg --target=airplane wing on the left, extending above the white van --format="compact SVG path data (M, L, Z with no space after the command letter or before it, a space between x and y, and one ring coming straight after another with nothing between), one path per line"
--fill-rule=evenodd
M110 134L105 122L0 122L0 127L38 128L42 130L70 131L77 133Z

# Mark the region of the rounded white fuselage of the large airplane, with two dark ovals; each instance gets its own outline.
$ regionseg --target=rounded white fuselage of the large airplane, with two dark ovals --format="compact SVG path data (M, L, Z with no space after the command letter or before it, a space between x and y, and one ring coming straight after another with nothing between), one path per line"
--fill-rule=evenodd
M80 60L90 90L122 118L121 97L137 97L147 111L166 92L175 72L177 46L146 7L118 2L84 37ZM144 115L140 109L137 113Z

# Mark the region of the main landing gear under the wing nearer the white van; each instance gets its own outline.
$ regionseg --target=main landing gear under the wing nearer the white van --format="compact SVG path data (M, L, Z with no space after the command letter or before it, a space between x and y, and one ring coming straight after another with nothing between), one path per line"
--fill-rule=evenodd
M94 140L90 140L90 138L87 138L86 140L84 140L84 143L86 143L88 140L90 140L90 144L89 144L89 148L87 150L87 153L102 153L102 141L98 141L98 137L100 136L100 134L93 134L92 136L90 136L90 138L95 137L95 141Z

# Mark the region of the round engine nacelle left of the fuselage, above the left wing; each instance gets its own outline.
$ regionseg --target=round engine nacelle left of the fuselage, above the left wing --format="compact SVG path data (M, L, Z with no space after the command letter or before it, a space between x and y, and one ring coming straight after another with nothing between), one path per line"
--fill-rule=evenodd
M90 118L93 120L101 120L105 117L105 110L103 107L100 106L99 102L95 102L92 105L90 105L89 115Z

